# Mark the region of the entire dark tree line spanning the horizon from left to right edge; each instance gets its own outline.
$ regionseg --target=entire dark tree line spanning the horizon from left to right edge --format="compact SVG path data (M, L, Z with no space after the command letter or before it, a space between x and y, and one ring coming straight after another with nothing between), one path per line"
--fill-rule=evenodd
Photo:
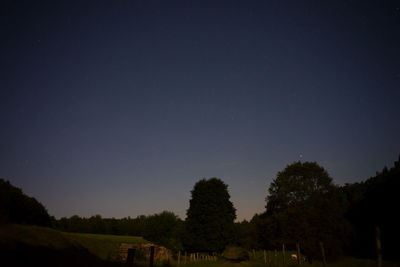
M295 249L308 260L351 255L375 257L375 228L382 233L383 257L399 260L400 157L364 182L335 185L316 162L294 162L278 172L266 194L265 211L250 221L234 222L236 210L228 185L218 178L201 179L191 191L187 216L164 211L136 218L55 219L34 198L0 180L0 222L51 226L68 232L143 236L175 251L222 252L228 245L246 249Z

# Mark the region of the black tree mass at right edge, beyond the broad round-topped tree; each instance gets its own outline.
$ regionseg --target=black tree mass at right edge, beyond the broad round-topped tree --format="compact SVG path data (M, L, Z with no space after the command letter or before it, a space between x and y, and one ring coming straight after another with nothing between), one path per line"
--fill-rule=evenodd
M375 258L375 231L379 227L385 248L383 257L387 260L400 259L397 249L400 220L394 215L395 205L400 202L399 188L400 156L393 167L384 167L374 177L341 188L350 203L346 217L356 232L349 246L352 255Z

